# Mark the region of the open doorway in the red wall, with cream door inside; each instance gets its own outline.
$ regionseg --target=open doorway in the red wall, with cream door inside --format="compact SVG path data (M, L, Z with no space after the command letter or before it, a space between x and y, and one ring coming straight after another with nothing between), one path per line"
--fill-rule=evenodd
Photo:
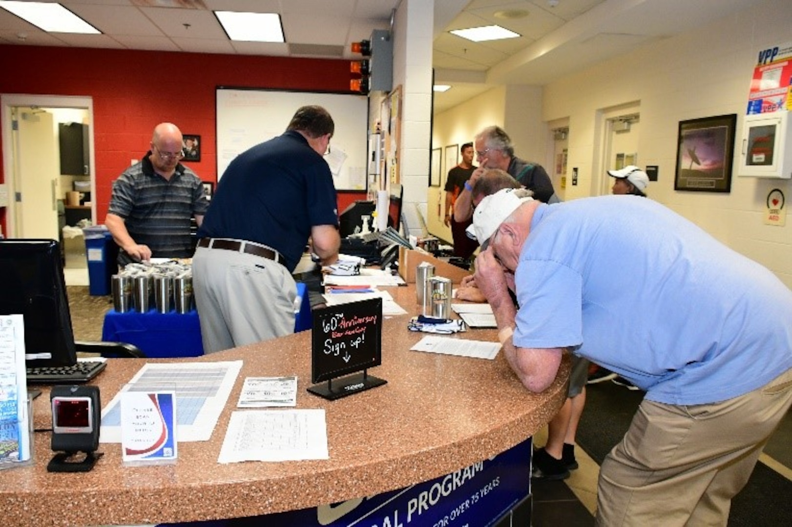
M74 180L82 180L82 188L89 188L89 192L82 195L95 195L92 99L4 94L0 96L0 120L3 173L9 196L6 237L44 237L61 241L67 285L87 286L82 233L73 230L70 233L74 237L64 239L63 226L66 225L67 191L74 190ZM87 169L77 178L61 174L58 127L63 122L88 125ZM78 214L82 218L95 222L95 199L79 203L76 208L80 209ZM74 251L81 253L72 254Z

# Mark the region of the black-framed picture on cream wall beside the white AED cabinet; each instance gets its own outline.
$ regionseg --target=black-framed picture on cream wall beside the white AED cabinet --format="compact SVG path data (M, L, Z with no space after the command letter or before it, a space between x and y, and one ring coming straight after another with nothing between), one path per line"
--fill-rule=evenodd
M730 192L737 114L680 121L674 190Z

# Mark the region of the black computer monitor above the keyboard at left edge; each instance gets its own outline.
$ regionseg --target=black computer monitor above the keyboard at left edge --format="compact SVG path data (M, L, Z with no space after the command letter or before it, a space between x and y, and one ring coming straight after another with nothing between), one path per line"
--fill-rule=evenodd
M77 362L60 246L54 240L0 240L0 315L25 321L28 367Z

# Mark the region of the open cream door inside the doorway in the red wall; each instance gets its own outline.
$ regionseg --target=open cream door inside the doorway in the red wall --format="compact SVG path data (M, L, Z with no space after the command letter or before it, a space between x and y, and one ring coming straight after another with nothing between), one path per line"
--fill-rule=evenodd
M14 233L19 238L59 239L58 188L59 160L53 135L53 117L42 109L15 107L13 132Z

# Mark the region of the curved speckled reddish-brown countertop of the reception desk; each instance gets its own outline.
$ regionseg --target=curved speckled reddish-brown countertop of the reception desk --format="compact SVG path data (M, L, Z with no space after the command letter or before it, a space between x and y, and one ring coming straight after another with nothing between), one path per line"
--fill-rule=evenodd
M414 286L390 288L408 311ZM176 464L129 468L120 445L101 444L92 472L47 472L50 433L34 437L35 464L0 472L6 525L131 525L241 518L321 506L392 491L485 460L543 427L561 407L569 360L545 392L532 394L493 361L409 351L420 332L409 315L383 322L383 363L370 370L387 384L329 401L310 385L310 332L200 358L111 359L94 384L107 404L146 363L242 360L242 372L208 442L182 442ZM456 338L496 341L495 330ZM329 460L218 464L242 381L297 375L296 408L326 411ZM36 429L51 427L49 390L34 401Z

